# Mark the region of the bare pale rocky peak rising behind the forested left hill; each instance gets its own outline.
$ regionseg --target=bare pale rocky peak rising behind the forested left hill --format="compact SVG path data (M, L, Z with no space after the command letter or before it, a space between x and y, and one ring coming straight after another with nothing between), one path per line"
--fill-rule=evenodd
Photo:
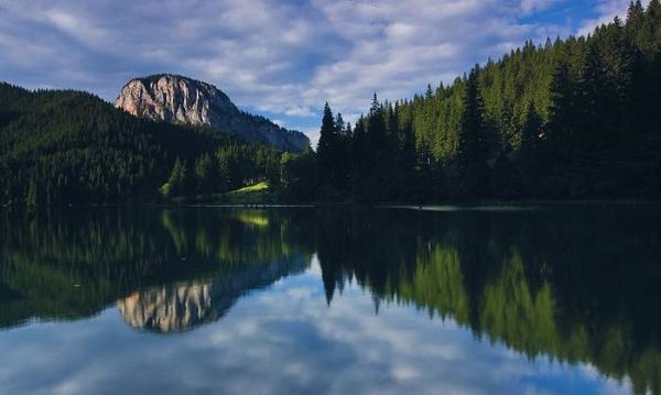
M208 125L283 151L303 151L307 138L270 120L239 110L210 84L160 74L131 79L115 106L136 117L193 125Z

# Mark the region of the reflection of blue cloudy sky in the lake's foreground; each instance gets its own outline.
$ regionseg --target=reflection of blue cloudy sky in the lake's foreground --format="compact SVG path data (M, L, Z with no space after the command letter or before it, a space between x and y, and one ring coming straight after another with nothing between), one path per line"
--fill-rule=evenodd
M116 310L0 334L2 394L624 393L589 366L528 361L403 306L373 314L347 287L326 307L317 268L176 337L130 330Z

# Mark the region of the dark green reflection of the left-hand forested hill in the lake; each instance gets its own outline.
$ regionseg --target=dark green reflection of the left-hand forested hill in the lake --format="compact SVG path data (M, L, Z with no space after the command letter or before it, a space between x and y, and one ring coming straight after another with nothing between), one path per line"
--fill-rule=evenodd
M90 316L150 286L197 282L254 267L249 288L274 262L301 270L311 251L290 244L296 229L277 212L227 210L82 210L0 219L0 327ZM262 216L259 226L256 221ZM272 273L271 273L272 274ZM273 279L284 273L278 272ZM205 279L206 281L206 279ZM218 287L216 287L217 289ZM238 293L238 290L237 290Z

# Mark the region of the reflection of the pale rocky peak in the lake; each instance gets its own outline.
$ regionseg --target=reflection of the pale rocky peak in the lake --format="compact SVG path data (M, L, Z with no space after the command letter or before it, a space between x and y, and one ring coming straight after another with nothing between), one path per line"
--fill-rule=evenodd
M306 267L307 261L302 257L239 267L212 282L177 283L134 292L120 299L118 308L133 328L181 332L218 320L246 293Z

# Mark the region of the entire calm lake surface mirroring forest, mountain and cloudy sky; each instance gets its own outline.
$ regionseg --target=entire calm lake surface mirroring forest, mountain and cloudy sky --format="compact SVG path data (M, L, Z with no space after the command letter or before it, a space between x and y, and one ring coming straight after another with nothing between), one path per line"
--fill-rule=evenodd
M0 213L0 394L661 394L661 208Z

